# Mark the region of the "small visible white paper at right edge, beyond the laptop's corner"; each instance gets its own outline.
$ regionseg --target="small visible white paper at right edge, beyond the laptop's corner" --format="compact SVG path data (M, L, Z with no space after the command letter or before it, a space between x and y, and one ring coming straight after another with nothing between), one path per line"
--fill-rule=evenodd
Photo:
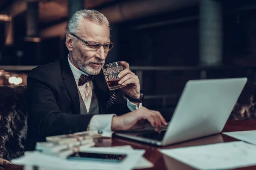
M244 142L256 144L256 130L224 132L223 134L239 139Z

